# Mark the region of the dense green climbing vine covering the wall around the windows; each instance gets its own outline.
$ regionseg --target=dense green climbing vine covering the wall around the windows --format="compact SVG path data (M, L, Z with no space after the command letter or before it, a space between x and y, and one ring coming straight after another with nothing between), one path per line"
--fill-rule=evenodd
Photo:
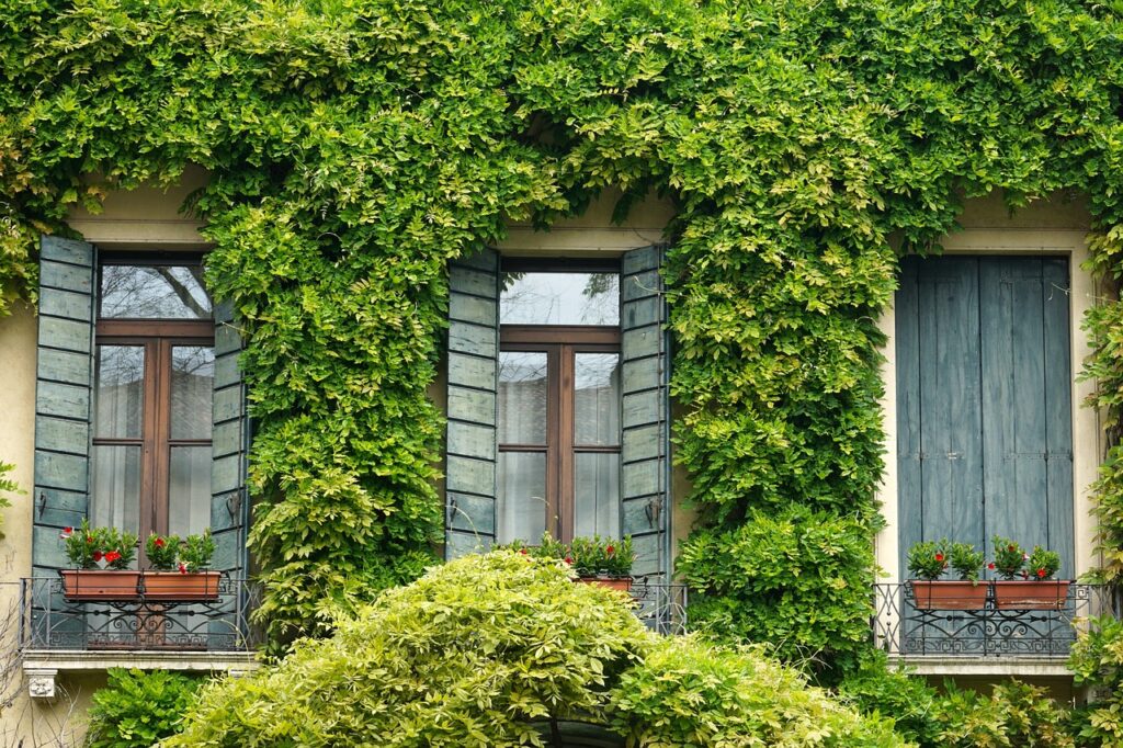
M610 185L621 210L664 192L677 204L665 274L678 455L706 521L684 548L687 573L713 582L711 618L728 630L791 655L822 645L844 664L865 638L879 523L876 319L893 247L929 249L965 198L1074 190L1094 216L1096 270L1120 272L1121 10L9 3L0 279L34 294L35 237L66 230L73 204L192 163L212 172L190 207L216 245L211 286L249 338L264 612L281 632L309 631L417 575L439 537L441 429L426 385L448 258ZM1089 318L1112 412L1121 314L1105 303ZM1101 485L1112 575L1119 464ZM804 589L811 568L838 594ZM743 569L767 575L747 585ZM809 605L825 605L824 641Z

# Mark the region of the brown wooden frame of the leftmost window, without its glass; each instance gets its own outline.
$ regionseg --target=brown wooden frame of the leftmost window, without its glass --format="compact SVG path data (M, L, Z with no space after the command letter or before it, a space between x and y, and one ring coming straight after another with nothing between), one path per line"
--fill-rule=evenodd
M199 255L109 255L99 263L98 291L101 289L101 267L106 265L198 265ZM99 302L100 303L100 302ZM100 308L99 308L100 311ZM152 532L168 531L170 480L172 448L177 446L207 447L212 439L173 439L171 436L172 348L176 346L214 347L213 319L140 319L98 317L94 321L94 356L97 346L143 346L144 380L141 428L139 438L113 438L92 435L93 446L140 447L140 505L138 532L140 559L145 563L144 541ZM97 393L98 382L93 383ZM97 405L95 405L97 407ZM92 426L97 425L97 420ZM93 429L91 429L93 430Z

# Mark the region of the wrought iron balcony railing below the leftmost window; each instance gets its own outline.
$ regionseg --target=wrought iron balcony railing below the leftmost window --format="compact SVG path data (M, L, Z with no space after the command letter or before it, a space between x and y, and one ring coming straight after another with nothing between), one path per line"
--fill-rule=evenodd
M118 595L72 600L62 580L21 580L22 649L249 651L262 641L249 612L261 589L226 575L203 600Z

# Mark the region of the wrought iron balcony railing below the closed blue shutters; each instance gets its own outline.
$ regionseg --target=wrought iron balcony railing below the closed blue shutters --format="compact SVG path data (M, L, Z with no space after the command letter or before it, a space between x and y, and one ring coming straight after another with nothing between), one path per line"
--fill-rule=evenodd
M1104 585L1069 584L1048 609L996 604L993 587L977 610L949 610L917 601L910 582L875 585L874 644L903 657L1033 657L1063 659L1083 621L1120 615L1120 601ZM919 604L917 604L919 603ZM955 604L955 603L952 603Z

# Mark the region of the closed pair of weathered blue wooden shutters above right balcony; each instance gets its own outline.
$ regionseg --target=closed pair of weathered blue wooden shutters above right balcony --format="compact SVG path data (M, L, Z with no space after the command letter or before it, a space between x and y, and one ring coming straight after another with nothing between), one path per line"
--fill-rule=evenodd
M896 295L901 568L947 537L1041 544L1074 571L1066 261L902 262Z

